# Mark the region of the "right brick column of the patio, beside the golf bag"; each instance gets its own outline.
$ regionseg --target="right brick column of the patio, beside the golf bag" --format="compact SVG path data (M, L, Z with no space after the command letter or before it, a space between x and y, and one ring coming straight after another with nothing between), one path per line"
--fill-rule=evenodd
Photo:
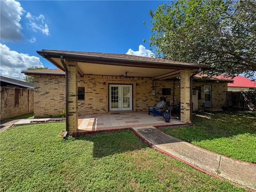
M191 123L190 119L190 70L180 73L180 120L182 123Z

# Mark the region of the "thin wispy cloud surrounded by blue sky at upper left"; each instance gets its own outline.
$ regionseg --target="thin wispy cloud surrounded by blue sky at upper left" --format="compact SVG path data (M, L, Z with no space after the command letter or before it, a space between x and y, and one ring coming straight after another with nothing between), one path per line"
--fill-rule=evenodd
M50 35L50 30L48 25L45 23L45 17L43 14L39 16L31 15L30 12L27 12L26 18L28 19L28 26L34 31L41 31L45 35Z

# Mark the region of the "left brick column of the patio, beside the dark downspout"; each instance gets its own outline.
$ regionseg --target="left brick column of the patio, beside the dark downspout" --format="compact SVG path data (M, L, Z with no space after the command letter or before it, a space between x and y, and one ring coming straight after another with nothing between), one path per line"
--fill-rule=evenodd
M68 132L73 134L78 129L77 103L77 62L67 61L68 67Z

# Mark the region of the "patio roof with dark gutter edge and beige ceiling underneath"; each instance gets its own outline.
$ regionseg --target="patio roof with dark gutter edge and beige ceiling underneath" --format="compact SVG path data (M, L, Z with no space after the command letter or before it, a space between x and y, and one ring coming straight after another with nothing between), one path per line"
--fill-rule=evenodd
M186 63L167 59L140 57L128 54L95 53L62 50L37 51L45 59L59 69L65 71L60 57L64 60L76 61L78 74L129 77L169 78L179 76L180 70L190 69L191 72L208 69L208 66L197 63ZM58 74L57 74L58 75Z

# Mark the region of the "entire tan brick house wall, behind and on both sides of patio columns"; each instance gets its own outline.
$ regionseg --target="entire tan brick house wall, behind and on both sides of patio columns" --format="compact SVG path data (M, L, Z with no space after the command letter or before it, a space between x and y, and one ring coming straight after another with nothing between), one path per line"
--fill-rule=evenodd
M162 96L162 87L171 88L171 95L165 96L171 105L174 101L180 102L179 81L157 81L153 84L152 78L119 76L84 75L77 77L78 87L85 87L85 100L78 100L78 114L108 113L108 85L133 85L133 111L147 111L149 106L155 106ZM213 85L212 106L220 108L226 98L227 83L194 82L193 85ZM152 94L153 89L155 95ZM204 101L204 94L199 102ZM200 105L198 102L198 105ZM58 115L65 110L65 76L35 76L35 117L49 117Z

